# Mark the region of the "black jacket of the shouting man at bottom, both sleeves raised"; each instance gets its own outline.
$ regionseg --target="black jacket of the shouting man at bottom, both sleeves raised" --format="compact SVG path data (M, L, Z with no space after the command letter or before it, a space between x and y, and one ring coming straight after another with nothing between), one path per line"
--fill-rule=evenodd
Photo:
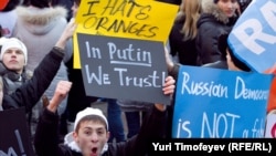
M138 135L127 142L108 143L108 149L103 156L144 156L149 150L150 141L164 134L167 112L160 112L155 106L142 122ZM38 124L34 147L39 156L82 156L67 145L59 144L59 116L44 110Z

